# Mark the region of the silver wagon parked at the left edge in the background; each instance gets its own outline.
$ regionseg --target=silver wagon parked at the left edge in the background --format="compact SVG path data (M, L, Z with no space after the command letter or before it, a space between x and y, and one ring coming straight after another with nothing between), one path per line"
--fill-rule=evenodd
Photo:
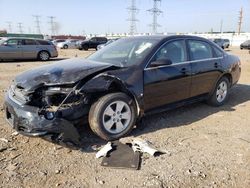
M52 42L31 38L7 38L0 41L0 60L39 59L47 61L57 57Z

